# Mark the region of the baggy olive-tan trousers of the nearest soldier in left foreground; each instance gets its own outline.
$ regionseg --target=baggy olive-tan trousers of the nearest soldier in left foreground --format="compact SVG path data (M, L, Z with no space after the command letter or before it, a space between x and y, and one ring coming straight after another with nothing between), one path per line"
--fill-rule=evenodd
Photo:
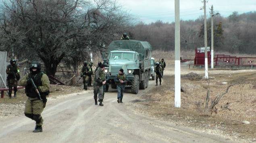
M43 125L43 118L41 116L41 113L44 110L44 104L41 100L30 100L28 99L25 103L25 111L24 114L28 118L31 118L35 121L35 124L37 126Z

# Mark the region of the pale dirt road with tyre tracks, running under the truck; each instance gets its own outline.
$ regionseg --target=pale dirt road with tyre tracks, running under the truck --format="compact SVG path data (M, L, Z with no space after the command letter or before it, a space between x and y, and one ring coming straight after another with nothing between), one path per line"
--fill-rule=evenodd
M150 81L149 89L154 86ZM126 89L124 103L117 103L117 93L110 88L104 106L95 106L93 92L49 100L42 116L43 133L32 133L35 122L25 116L0 121L0 142L228 142L171 122L158 121L129 110L132 100L147 90L130 94ZM232 141L233 142L233 141Z

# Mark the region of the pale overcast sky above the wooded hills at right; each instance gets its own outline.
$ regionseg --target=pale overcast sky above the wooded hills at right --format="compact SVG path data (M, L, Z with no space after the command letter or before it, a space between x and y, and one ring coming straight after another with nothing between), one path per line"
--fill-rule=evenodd
M145 23L162 20L174 22L174 0L117 0L125 10L132 14L138 21ZM210 16L210 7L213 5L215 12L222 16L229 16L233 11L239 14L256 11L256 0L208 0L206 13ZM204 14L200 7L204 6L202 0L180 0L180 19L195 20Z

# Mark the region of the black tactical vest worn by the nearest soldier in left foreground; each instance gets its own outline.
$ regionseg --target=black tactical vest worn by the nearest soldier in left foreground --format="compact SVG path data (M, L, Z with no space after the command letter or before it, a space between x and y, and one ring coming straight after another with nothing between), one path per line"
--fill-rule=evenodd
M42 81L41 81L41 78L43 76L44 72L40 72L39 74L36 74L35 76L32 75L31 73L29 73L29 76L32 78L32 80L34 81L35 83L35 86L42 86ZM31 97L31 98L36 98L38 97L37 93L35 92L35 90L33 90L33 85L29 85L29 86L25 86L25 92L26 92L26 95L28 97ZM49 94L49 91L47 92L40 92L40 95L41 96L46 96Z

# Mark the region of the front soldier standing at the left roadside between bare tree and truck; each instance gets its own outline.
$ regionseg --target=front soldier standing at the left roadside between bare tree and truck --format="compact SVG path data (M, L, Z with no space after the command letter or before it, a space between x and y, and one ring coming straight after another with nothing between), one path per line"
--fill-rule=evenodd
M87 90L87 84L89 80L89 74L92 74L92 71L89 71L88 62L84 61L83 65L80 67L80 76L83 77L83 90Z

